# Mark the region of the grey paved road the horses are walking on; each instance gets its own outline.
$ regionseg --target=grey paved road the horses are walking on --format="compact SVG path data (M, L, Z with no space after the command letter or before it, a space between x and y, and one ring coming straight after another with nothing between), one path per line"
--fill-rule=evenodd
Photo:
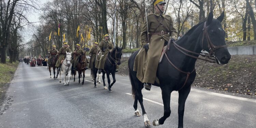
M143 117L134 116L131 85L117 75L113 93L94 88L86 73L84 85L69 86L49 78L47 67L20 63L1 106L3 128L144 128ZM150 122L163 115L161 91L143 89ZM177 128L178 93L171 96L171 116L158 128ZM153 102L152 102L153 101ZM140 106L138 107L141 112ZM192 87L188 96L185 128L255 128L256 100ZM155 126L152 126L155 127Z

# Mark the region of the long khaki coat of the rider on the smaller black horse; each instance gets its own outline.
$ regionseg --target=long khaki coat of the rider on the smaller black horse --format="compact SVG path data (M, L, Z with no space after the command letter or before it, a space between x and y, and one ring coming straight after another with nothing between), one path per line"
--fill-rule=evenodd
M110 41L102 40L100 42L99 49L101 49L101 53L103 56L102 57L97 56L97 59L95 62L95 68L104 69L104 64L105 64L106 58L108 58L109 51L113 48L114 48L114 45ZM105 49L105 52L103 51L103 49Z

